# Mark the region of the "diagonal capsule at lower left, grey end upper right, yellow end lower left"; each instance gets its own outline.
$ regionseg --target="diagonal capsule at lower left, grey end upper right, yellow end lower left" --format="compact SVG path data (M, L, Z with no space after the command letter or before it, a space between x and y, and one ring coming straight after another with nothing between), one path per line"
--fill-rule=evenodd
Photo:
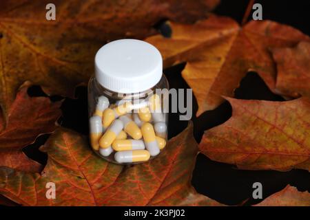
M112 142L114 142L116 136L118 135L118 133L122 131L122 129L123 129L123 122L119 119L114 120L110 128L107 129L107 131L105 131L103 136L100 138L99 146L101 148L108 148L109 146L111 146Z

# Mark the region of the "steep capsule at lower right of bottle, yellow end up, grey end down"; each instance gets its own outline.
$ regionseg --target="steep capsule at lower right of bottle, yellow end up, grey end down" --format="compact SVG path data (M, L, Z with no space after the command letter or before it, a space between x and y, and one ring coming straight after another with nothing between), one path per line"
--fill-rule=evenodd
M149 154L152 156L158 155L160 150L156 141L155 131L152 124L149 122L143 123L141 126L141 131L145 147L147 148L147 151L149 151Z

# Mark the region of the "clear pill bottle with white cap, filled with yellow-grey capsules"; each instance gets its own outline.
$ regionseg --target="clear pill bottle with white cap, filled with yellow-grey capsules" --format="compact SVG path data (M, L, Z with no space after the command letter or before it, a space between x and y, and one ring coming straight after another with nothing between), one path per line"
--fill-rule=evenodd
M134 39L96 53L88 83L90 146L116 164L147 162L167 147L167 94L161 53Z

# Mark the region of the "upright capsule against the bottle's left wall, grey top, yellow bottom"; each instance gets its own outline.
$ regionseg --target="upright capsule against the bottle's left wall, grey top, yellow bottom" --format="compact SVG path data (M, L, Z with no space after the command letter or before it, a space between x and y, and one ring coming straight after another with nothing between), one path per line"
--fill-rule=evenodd
M95 151L99 149L99 139L102 136L103 127L101 117L94 115L90 118L90 144Z

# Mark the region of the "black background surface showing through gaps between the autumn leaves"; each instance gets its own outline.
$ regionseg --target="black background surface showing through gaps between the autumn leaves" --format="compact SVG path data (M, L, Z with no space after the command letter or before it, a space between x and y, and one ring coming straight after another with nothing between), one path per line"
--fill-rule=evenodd
M214 13L234 18L241 23L248 2L244 0L222 0ZM304 34L310 35L310 1L266 0L256 1L256 3L262 4L262 19L270 19L291 25L304 32ZM249 18L251 18L251 14ZM171 34L169 26L164 21L158 23L155 28L165 36ZM164 72L169 80L170 88L189 88L185 80L180 76L180 72L184 67L185 63L165 69ZM31 87L28 93L30 96L46 96L38 86ZM255 72L249 72L242 79L240 87L235 91L235 98L284 101L280 96L272 94ZM61 97L53 96L51 99L61 100ZM198 118L195 117L198 109L196 99L193 105L192 120L194 122L194 136L197 142L200 142L203 131L222 124L231 117L231 106L228 102L224 102L213 111L203 113ZM76 89L75 100L65 98L61 109L63 115L59 119L59 124L87 135L86 87L78 87ZM178 113L169 114L169 138L183 131L186 126L186 121L178 120ZM47 140L48 136L41 135L34 144L27 146L23 151L28 157L37 160L41 164L45 164L47 155L41 153L38 148ZM238 170L233 165L213 162L203 154L199 154L197 157L192 177L192 185L198 192L227 205L238 205L243 202L245 202L245 205L259 203L259 199L251 199L254 190L252 184L256 181L262 183L264 198L282 190L287 184L296 186L300 191L310 191L310 174L307 170L291 170L289 172Z

